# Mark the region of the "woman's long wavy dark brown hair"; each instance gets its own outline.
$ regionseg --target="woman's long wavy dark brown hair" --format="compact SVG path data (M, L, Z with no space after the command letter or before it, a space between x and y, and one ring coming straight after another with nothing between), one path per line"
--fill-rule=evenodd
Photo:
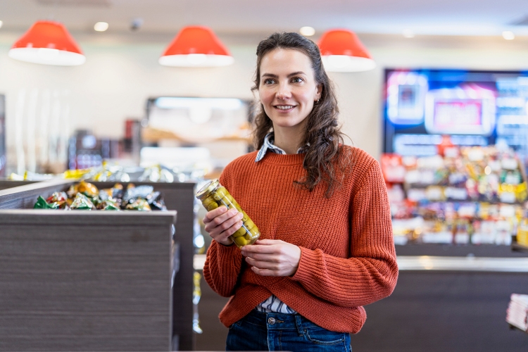
M326 197L332 196L334 189L341 185L344 172L336 173L335 166L338 165L344 171L349 155L343 155L342 145L344 134L337 122L339 108L334 93L332 81L322 65L321 54L318 46L310 39L294 32L274 33L264 39L257 46L257 68L255 73L255 85L251 88L254 92L260 86L260 63L262 58L274 49L294 49L306 54L312 63L315 82L322 85L321 97L314 104L313 110L307 117L306 132L302 145L306 155L303 168L306 176L302 180L294 181L308 191L312 191L319 182L327 184ZM264 143L264 137L273 130L273 122L266 115L264 107L260 104L260 111L253 120L253 144L260 149ZM337 161L337 163L336 163Z

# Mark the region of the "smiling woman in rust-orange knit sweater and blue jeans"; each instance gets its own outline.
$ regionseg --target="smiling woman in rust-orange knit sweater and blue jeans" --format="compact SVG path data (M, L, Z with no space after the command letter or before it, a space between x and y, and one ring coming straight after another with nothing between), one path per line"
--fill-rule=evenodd
M337 101L313 42L275 33L257 48L258 151L220 177L260 229L238 249L241 214L203 219L214 239L203 276L221 296L227 351L350 351L362 306L389 296L398 276L379 164L345 146Z

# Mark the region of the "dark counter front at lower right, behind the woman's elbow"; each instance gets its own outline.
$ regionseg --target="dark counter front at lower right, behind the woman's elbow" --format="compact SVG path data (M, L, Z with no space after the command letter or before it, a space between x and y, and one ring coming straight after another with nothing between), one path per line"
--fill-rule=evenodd
M528 292L527 273L401 271L394 293L365 307L353 351L528 351L505 321L513 292Z

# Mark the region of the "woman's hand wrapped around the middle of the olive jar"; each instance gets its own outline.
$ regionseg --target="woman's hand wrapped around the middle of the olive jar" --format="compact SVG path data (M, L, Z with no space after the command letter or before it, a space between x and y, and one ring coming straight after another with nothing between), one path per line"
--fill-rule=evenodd
M233 241L228 237L242 227L243 217L244 214L237 209L227 210L225 206L220 206L206 213L203 224L210 237L224 246L230 246Z

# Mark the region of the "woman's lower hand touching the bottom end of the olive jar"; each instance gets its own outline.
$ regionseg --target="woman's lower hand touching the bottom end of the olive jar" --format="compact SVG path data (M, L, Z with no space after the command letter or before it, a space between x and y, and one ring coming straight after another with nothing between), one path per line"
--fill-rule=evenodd
M251 270L263 276L291 276L301 260L301 249L278 239L261 239L241 249Z

